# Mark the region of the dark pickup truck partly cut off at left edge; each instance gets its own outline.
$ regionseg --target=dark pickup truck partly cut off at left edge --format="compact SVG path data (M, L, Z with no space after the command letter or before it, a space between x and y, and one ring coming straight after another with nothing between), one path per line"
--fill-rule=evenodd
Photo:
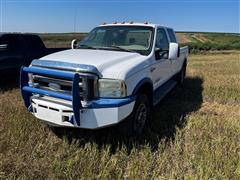
M38 35L0 34L0 73L19 73L21 66L29 66L33 59L52 54L62 48L46 48Z

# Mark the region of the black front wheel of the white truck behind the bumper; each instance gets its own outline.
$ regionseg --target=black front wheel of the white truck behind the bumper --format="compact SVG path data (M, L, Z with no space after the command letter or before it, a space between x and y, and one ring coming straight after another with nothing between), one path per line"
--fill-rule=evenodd
M120 134L140 136L150 119L150 103L147 95L139 94L131 115L118 126Z

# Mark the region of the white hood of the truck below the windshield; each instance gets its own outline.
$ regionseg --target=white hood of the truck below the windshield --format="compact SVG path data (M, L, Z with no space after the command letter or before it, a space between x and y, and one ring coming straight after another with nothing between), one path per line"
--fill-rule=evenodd
M98 69L104 78L120 78L126 67L137 65L146 56L132 52L70 49L42 57L40 60L68 62L82 65L91 65Z

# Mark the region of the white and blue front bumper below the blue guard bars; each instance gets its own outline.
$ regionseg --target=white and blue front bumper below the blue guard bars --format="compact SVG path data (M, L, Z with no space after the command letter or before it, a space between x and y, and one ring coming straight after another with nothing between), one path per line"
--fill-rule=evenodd
M33 115L53 126L98 129L119 123L133 111L135 98L99 99L79 110L80 123L74 120L69 101L49 97L33 97Z

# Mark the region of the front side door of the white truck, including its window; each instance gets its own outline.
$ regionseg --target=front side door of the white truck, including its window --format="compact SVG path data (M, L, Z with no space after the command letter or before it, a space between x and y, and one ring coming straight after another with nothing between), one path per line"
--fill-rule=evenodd
M169 41L167 33L164 28L157 29L156 46L160 49L158 59L155 58L155 63L151 67L152 79L154 83L154 89L164 84L172 75L171 61L168 60Z

